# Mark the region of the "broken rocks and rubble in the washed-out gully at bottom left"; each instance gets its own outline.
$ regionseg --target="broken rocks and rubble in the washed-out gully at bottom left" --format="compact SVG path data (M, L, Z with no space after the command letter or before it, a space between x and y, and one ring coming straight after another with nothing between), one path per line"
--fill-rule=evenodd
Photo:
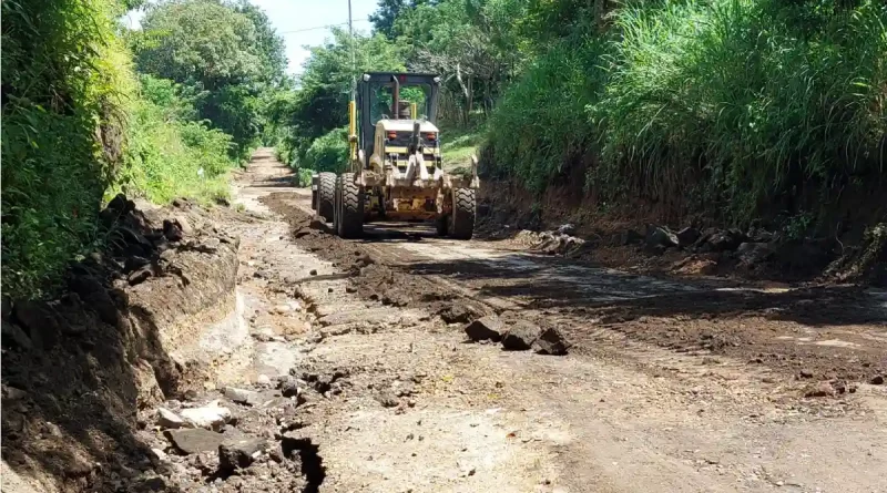
M302 378L292 374L300 373ZM265 377L248 388L222 387L191 400L169 400L156 408L142 438L150 444L151 468L124 491L145 481L175 491L310 491L324 481L319 448L299 434L308 414L306 394L336 393L348 372L329 374L290 370L276 383Z

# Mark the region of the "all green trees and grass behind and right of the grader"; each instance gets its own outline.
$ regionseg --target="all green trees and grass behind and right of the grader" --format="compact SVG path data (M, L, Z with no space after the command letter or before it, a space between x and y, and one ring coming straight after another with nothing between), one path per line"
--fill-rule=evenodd
M316 111L289 115L305 150L290 163L345 123L349 59L328 53L355 44L359 60L385 47L361 68L440 74L445 157L480 144L488 178L533 194L579 173L609 206L747 223L881 181L880 1L384 0L370 20L375 37L337 33L307 62Z

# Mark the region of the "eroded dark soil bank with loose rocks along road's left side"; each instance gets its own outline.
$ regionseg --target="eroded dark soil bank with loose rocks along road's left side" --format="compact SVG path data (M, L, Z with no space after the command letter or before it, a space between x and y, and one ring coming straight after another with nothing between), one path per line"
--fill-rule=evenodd
M119 491L150 468L135 430L203 384L174 351L195 336L183 327L233 296L237 240L210 213L119 195L101 217L108 247L71 267L64 292L3 302L2 455L39 491Z

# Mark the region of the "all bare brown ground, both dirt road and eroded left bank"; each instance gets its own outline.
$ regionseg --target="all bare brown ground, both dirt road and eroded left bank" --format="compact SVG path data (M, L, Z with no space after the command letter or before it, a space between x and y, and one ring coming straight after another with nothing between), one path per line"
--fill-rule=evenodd
M652 277L421 224L343 240L292 179L262 150L235 177L245 213L165 213L205 220L163 263L142 251L150 274L119 253L98 281L131 331L69 296L57 321L81 322L22 348L29 311L4 307L3 491L887 491L887 294ZM487 314L569 353L470 343ZM216 405L205 430L175 421Z

